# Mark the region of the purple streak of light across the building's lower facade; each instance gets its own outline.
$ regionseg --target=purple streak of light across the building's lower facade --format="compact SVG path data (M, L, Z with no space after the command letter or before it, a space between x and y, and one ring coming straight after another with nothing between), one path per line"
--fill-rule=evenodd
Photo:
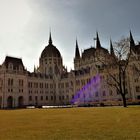
M94 76L90 82L82 87L71 100L71 104L85 104L93 101L93 96L100 89L100 76Z

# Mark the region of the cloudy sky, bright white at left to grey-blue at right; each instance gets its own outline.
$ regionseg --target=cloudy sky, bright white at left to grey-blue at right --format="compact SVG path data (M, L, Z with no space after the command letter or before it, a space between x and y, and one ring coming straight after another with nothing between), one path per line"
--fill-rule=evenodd
M130 30L140 40L139 11L140 0L0 0L0 63L18 57L33 71L51 29L63 64L73 69L76 38L80 53L94 46L96 31L105 48Z

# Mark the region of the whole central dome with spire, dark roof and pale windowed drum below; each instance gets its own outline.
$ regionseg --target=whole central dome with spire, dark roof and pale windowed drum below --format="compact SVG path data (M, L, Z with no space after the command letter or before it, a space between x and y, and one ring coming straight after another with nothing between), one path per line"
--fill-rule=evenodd
M44 48L39 59L39 71L47 75L63 72L63 61L59 50L52 44L51 33L49 44Z

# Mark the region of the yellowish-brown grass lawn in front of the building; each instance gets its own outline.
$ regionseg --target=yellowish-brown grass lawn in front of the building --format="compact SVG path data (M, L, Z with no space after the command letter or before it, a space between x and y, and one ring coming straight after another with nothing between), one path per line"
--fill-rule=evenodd
M140 106L0 110L0 140L140 140Z

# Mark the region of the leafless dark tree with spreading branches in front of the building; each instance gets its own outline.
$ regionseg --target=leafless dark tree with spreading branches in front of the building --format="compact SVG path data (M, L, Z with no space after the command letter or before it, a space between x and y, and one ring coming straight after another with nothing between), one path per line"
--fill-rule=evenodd
M111 61L109 63L102 61L104 70L108 75L107 84L116 88L117 93L122 97L124 107L127 107L126 72L131 55L129 40L129 38L122 38L115 42L114 46L111 43Z

